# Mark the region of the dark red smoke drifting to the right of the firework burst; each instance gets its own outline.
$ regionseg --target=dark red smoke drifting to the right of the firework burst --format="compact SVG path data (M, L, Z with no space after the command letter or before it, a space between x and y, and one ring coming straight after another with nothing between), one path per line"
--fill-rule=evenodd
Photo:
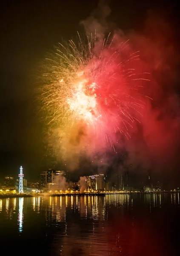
M97 9L81 24L90 35L96 30L98 39L111 28L117 35L117 41L127 38L131 47L140 50L140 69L151 73L151 82L144 87L144 93L152 98L147 100L142 111L140 123L131 129L131 139L122 140L120 151L126 151L123 166L133 166L143 170L177 174L180 166L178 151L180 148L180 99L177 93L179 54L176 49L174 29L167 21L166 13L147 13L143 32L126 31L108 22L110 7L100 1ZM120 152L119 151L119 152ZM116 159L110 157L107 165ZM172 176L172 175L171 175Z

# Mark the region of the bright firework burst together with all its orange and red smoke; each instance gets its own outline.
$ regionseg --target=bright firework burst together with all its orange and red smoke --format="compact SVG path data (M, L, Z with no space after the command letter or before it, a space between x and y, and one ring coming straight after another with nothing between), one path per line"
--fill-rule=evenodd
M69 159L70 169L77 169L79 156L87 154L99 168L113 163L117 172L119 164L122 169L175 170L180 101L174 87L179 62L174 31L166 15L149 12L143 32L125 36L107 22L111 10L102 3L81 22L88 38L59 45L52 61L46 61L42 102L49 145L53 154ZM107 157L110 149L118 154Z

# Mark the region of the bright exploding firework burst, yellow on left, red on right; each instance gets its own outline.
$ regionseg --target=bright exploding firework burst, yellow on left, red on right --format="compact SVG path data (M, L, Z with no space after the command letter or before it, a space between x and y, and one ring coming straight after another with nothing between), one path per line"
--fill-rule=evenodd
M67 47L59 44L44 74L43 108L49 127L71 136L74 127L86 125L89 139L93 136L95 144L98 138L99 145L105 141L113 148L113 134L130 137L129 127L143 107L139 87L149 79L134 68L139 55L127 42L120 43L118 37L110 41L109 36L100 42L91 36L86 45L80 37L77 45L72 40Z

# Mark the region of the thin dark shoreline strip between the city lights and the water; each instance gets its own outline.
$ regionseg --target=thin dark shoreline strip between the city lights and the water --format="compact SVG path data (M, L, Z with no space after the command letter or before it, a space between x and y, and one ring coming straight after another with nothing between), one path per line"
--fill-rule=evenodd
M180 191L166 191L166 192L124 192L124 193L67 193L67 194L37 194L37 195L0 195L0 199L3 198L26 198L26 197L34 197L34 196L43 196L43 197L64 197L64 196L106 196L106 195L146 195L146 194L172 194L172 193L178 193Z

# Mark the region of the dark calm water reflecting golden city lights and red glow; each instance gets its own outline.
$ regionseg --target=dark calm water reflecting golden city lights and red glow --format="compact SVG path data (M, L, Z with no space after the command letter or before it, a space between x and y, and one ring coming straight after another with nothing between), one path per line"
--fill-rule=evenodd
M0 254L180 255L180 194L0 199Z

